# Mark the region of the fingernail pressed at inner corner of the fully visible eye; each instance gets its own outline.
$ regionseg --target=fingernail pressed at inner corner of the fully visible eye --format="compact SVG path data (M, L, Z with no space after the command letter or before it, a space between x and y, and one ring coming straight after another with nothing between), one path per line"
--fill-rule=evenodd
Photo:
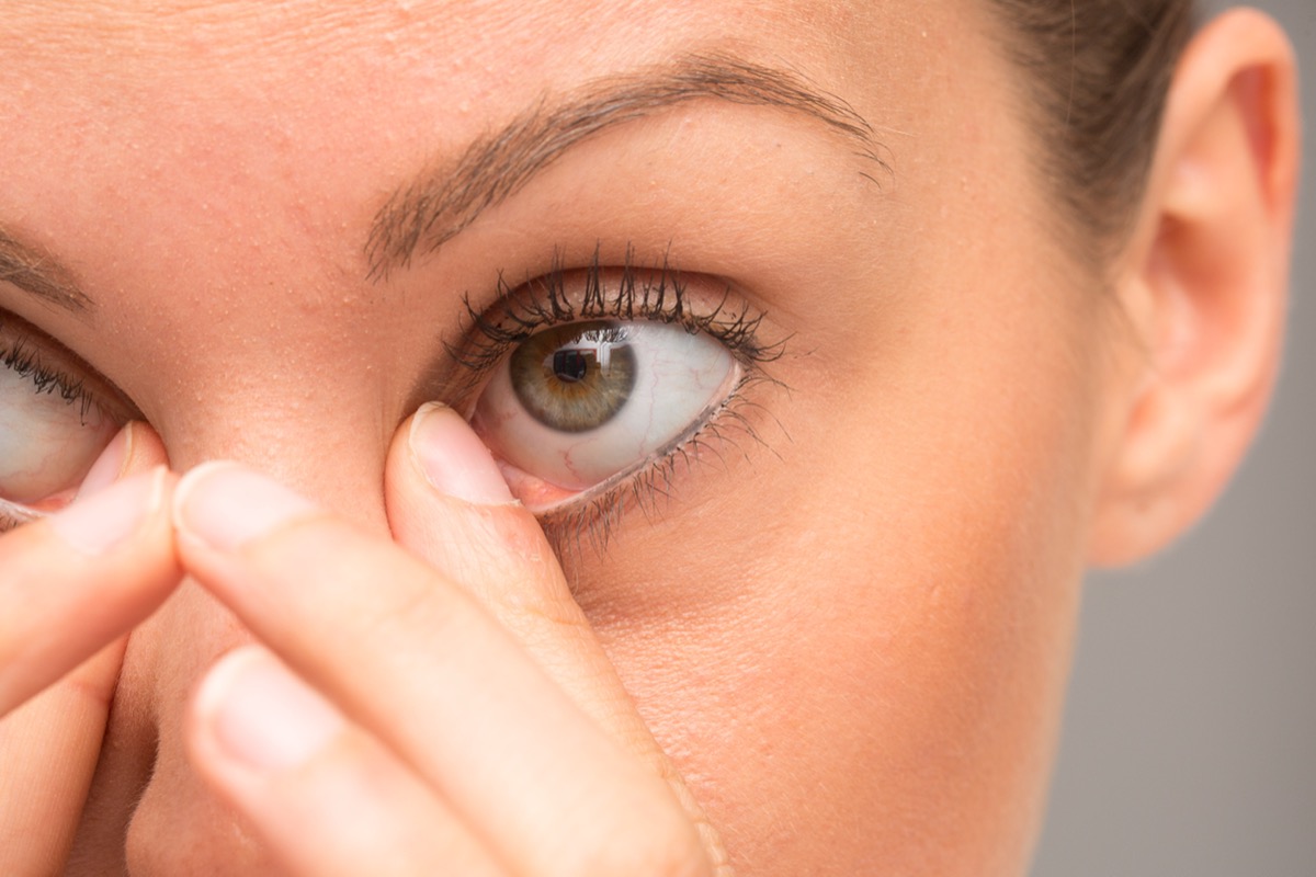
M513 501L488 448L449 406L430 402L416 412L411 448L425 480L440 493L475 505Z

